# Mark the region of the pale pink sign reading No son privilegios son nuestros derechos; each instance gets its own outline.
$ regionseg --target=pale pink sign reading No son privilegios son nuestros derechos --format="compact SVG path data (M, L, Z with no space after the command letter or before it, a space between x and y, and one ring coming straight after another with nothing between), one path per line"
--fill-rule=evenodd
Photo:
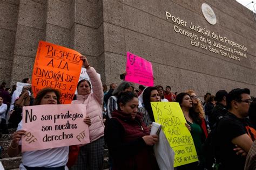
M23 107L22 152L90 143L84 104Z

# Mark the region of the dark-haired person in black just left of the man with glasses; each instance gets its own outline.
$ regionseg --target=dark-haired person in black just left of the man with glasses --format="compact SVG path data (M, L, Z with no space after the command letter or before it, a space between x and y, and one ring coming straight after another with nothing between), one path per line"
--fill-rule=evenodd
M227 114L226 97L227 97L226 90L217 91L215 98L214 98L214 101L217 101L216 106L212 110L211 114L208 115L208 121L209 121L211 129L213 128L214 124L217 123L221 117L223 117Z

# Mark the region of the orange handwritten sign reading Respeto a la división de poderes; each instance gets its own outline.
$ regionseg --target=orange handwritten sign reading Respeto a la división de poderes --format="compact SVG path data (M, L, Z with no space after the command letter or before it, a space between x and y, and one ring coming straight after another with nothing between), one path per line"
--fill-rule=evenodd
M35 97L42 88L51 87L60 90L62 104L70 104L83 64L80 56L73 49L39 41L32 74Z

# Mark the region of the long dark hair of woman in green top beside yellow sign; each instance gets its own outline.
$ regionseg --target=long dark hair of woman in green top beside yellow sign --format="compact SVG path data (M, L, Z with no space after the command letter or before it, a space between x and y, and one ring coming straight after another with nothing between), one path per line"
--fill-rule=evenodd
M180 107L181 107L181 103L183 102L183 98L186 95L190 96L190 94L188 94L188 93L179 93L176 96L176 100L175 101L179 103ZM201 118L199 116L199 112L195 112L193 107L190 108L188 115L192 118L193 122L195 122L195 123L197 123L199 125L202 123L202 120L201 120Z

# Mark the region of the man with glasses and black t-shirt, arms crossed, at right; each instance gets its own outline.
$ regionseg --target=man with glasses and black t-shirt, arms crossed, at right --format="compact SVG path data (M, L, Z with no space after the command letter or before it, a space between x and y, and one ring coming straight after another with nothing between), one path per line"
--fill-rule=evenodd
M248 153L255 139L255 130L251 128L248 109L251 104L250 90L233 89L227 95L228 113L220 119L216 128L215 158L218 170L237 169L245 166L246 157L237 153L236 148ZM216 168L215 168L216 169Z

